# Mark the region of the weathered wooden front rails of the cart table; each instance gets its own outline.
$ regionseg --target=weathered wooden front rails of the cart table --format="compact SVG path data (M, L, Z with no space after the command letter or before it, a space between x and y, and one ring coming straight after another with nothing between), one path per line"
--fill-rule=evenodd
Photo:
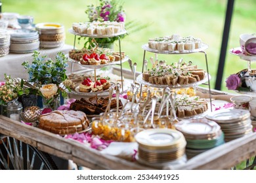
M101 154L83 144L64 139L37 127L22 124L0 115L0 133L18 141L30 144L49 154L71 159L77 165L90 169L152 169L136 162ZM256 155L256 133L227 142L208 150L184 165L163 167L163 169L230 169L245 159Z

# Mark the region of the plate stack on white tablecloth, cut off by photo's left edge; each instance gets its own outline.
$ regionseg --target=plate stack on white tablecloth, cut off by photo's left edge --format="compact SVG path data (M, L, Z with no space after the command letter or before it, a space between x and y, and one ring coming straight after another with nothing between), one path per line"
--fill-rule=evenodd
M9 54L10 34L8 31L0 29L0 57Z

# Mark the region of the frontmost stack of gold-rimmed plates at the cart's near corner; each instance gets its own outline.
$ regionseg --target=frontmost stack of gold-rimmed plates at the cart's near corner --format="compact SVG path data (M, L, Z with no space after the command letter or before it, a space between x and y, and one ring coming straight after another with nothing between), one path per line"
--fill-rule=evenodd
M186 140L174 129L146 129L135 136L139 144L139 163L158 167L167 163L182 163Z

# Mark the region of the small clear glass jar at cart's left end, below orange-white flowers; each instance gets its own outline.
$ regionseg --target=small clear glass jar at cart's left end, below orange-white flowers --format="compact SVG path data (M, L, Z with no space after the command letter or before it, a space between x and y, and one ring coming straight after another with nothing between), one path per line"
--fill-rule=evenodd
M7 104L7 117L12 120L20 121L20 114L22 113L22 103L13 100Z

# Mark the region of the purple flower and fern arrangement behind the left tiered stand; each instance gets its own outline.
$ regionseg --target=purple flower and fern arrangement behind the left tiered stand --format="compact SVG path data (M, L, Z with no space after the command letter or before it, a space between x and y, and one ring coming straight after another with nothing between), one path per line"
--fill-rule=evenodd
M100 5L88 5L87 10L85 13L89 18L89 22L99 21L110 21L110 22L125 22L125 10L123 10L123 1L120 0L99 0ZM135 31L139 31L144 27L147 27L147 24L141 24L137 21L129 21L125 22L125 29L127 33L124 35L119 35L121 39L123 39L126 35L133 33ZM79 37L79 40L81 37ZM84 37L84 39L87 39ZM95 39L98 42L99 46L104 44L113 44L115 41L118 40L118 37L111 37L111 38L104 38L104 39ZM91 38L88 38L84 44L84 47L91 46Z

